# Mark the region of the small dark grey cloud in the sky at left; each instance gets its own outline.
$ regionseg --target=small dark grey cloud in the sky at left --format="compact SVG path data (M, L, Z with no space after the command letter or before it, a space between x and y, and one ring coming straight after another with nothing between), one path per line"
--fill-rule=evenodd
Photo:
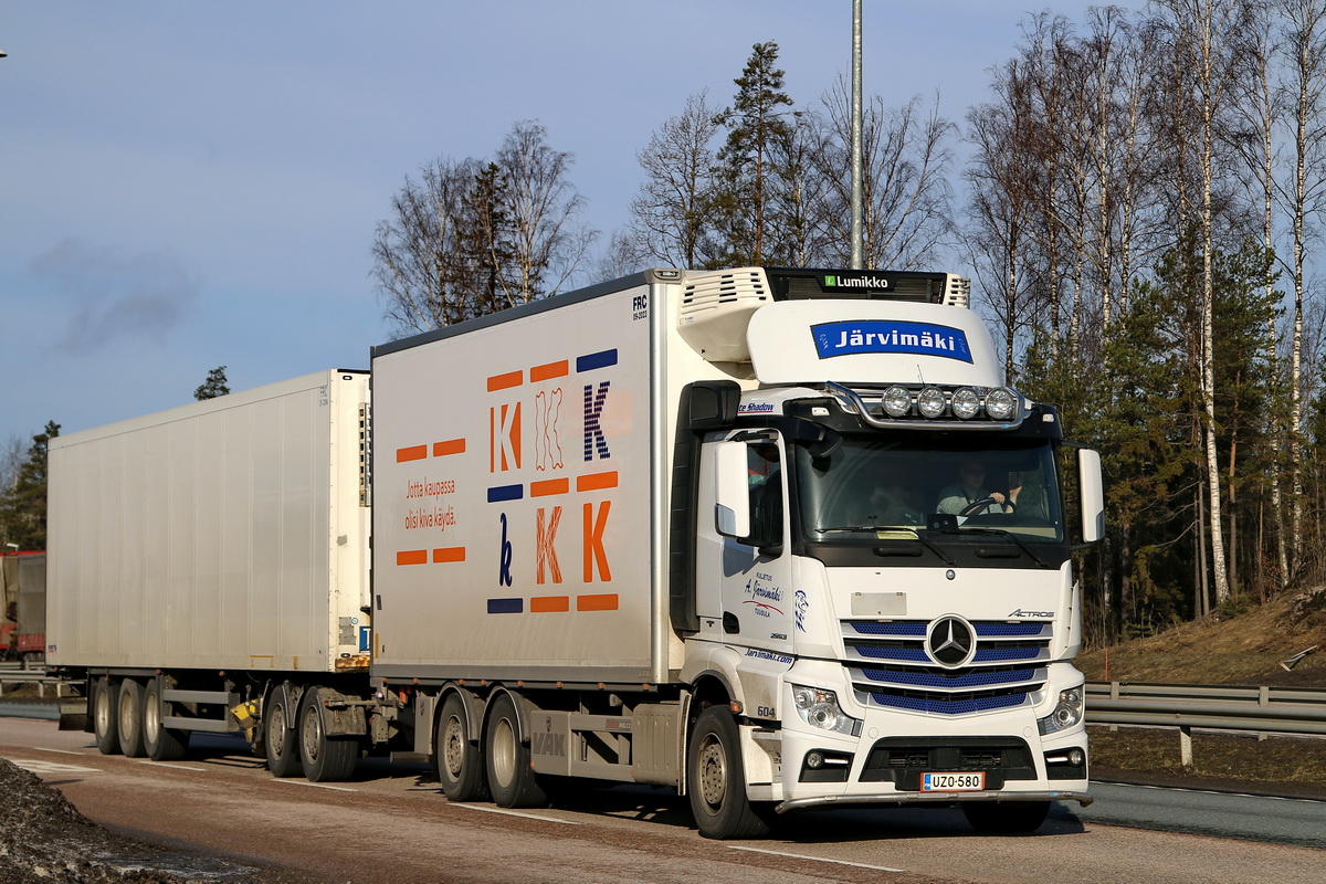
M163 341L198 297L198 284L168 248L123 254L65 239L38 254L29 272L62 302L62 350L117 341Z

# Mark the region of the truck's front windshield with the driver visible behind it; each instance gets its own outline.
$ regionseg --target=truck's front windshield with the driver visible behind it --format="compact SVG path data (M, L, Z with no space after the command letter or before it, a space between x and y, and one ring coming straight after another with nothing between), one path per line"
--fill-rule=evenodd
M847 435L827 459L797 452L801 525L813 543L1008 531L1063 541L1054 455L1044 439Z

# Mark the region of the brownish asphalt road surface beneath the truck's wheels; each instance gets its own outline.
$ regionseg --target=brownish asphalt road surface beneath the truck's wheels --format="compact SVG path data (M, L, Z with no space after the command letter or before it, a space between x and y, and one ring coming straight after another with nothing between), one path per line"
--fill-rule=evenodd
M1102 787L1085 812L1057 807L1034 836L975 835L953 808L834 810L785 818L776 839L716 843L695 832L684 802L667 790L599 790L574 806L513 812L448 803L422 766L370 759L353 782L318 786L273 779L241 744L207 742L184 761L152 763L99 755L88 734L50 722L0 720L0 757L36 771L89 818L172 847L285 867L289 880L308 884L1321 884L1326 869L1317 848L1110 824L1142 815L1122 787ZM1265 807L1238 814L1269 819ZM1322 810L1276 807L1282 820Z

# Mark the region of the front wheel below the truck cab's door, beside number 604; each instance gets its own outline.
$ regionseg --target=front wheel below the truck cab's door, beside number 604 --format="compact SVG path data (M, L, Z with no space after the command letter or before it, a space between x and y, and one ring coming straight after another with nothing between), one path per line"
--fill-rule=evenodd
M691 812L704 838L758 838L769 832L747 798L740 733L725 706L708 706L695 722L686 778Z

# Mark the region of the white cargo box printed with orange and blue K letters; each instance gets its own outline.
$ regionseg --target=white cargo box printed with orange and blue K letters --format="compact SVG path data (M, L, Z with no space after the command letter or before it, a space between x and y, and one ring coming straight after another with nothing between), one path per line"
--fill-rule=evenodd
M590 289L377 349L375 675L642 684L680 668L671 437L683 386L720 374L667 346L650 294Z

